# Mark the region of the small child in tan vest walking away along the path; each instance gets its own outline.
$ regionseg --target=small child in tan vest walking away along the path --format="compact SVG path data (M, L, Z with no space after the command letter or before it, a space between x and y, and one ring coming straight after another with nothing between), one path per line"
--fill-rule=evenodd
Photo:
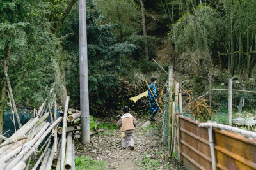
M125 136L122 137L122 146L123 148L131 148L134 150L134 132L137 125L137 120L129 113L128 106L125 106L123 109L124 115L118 120L118 127L121 127L121 131L125 133Z

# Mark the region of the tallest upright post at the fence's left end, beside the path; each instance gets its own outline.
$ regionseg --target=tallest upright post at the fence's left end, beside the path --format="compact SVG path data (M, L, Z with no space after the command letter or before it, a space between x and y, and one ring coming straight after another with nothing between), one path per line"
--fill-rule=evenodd
M169 66L169 132L168 132L168 155L171 155L171 139L172 139L172 85L173 85L173 78L172 78L172 67Z

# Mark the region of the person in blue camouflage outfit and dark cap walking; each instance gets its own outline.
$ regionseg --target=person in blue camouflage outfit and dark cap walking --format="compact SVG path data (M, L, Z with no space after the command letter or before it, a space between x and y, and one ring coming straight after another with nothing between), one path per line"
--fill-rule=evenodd
M149 97L149 108L150 108L150 119L155 121L155 115L159 110L157 105L158 94L157 94L157 78L151 78L151 84L148 86L148 97ZM150 91L151 90L151 91ZM154 96L153 96L154 95Z

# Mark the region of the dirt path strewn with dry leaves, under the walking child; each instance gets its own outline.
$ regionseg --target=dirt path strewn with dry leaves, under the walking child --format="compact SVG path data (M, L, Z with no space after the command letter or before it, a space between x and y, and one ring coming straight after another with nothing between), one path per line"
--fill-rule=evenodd
M122 148L120 130L101 132L91 136L91 145L76 145L76 156L89 155L107 162L108 169L183 169L177 160L168 157L157 128L161 117L151 127L141 128L147 119L138 121L134 136L135 150Z

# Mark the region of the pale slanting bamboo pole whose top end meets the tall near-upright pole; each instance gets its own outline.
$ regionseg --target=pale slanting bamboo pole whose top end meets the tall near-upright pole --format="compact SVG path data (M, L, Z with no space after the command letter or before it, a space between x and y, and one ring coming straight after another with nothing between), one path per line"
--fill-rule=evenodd
M45 139L45 137L49 134L49 132L51 132L52 128L54 128L61 120L63 119L63 117L59 117L45 132L44 134L42 134L42 136L36 141L35 145L33 145L33 148L38 148L38 146L40 145L40 143L42 143L42 141ZM8 166L6 167L7 169L12 169L13 166L15 166L15 164L17 164L17 162L19 162L20 160L22 161L26 161L30 155L33 153L33 150L29 150L29 152L26 153L26 155L23 154L19 154L18 157L16 157L15 159L12 160L12 162L10 162L8 164Z

